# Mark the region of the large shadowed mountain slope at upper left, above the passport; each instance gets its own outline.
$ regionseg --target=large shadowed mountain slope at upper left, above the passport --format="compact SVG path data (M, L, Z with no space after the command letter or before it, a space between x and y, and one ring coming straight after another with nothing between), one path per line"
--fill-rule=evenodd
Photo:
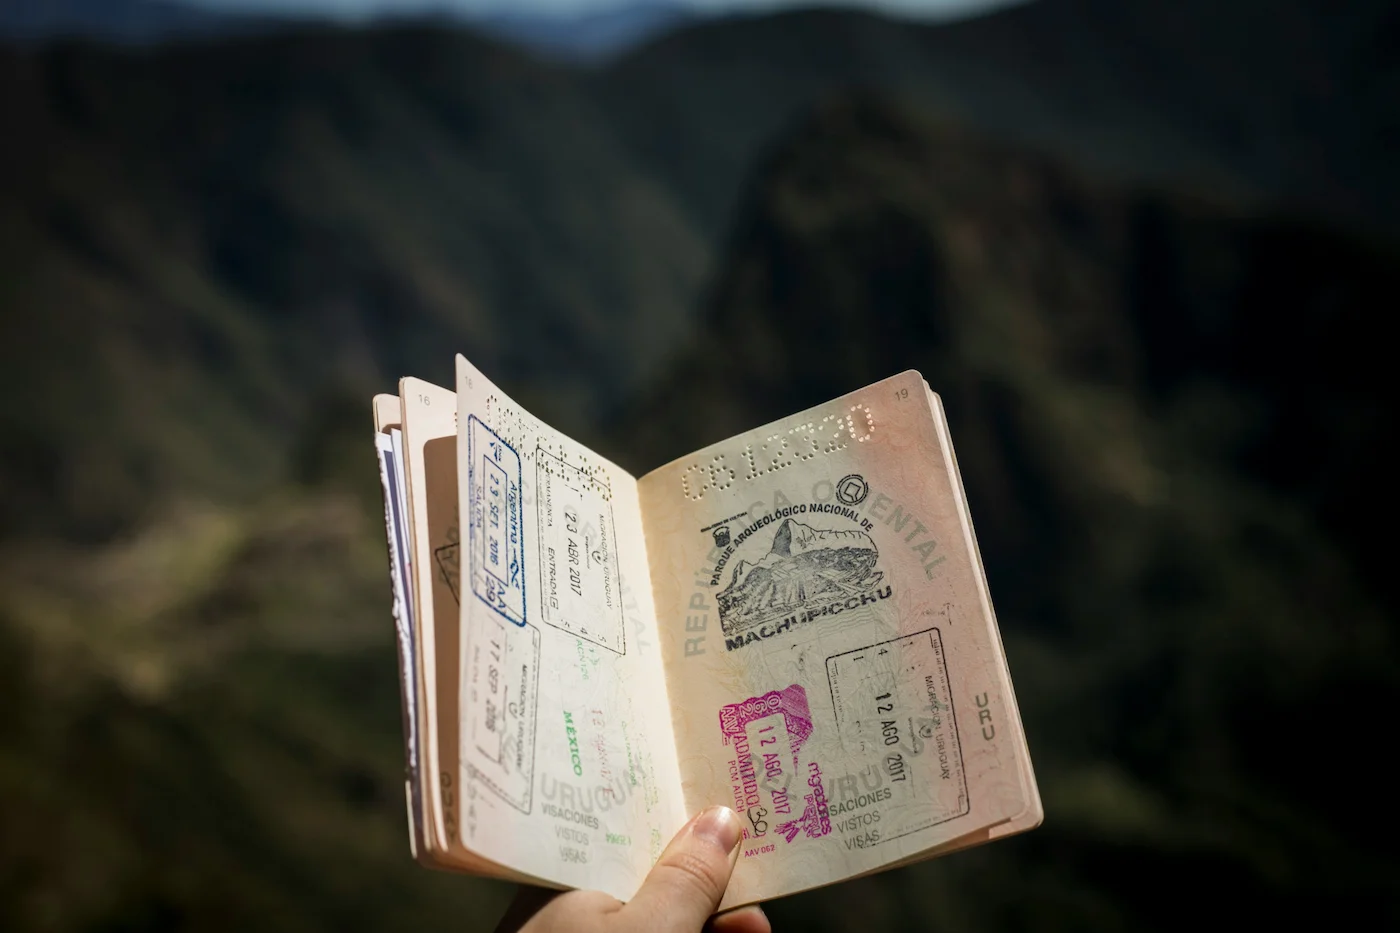
M6 50L0 81L7 531L256 488L318 399L455 350L577 424L685 332L707 251L671 193L571 74L470 35Z

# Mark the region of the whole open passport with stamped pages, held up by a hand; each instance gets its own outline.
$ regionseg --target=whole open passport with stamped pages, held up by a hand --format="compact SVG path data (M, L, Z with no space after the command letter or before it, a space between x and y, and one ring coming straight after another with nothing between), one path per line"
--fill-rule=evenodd
M1040 824L918 373L641 478L461 356L374 416L421 863L627 899L727 804L727 909Z

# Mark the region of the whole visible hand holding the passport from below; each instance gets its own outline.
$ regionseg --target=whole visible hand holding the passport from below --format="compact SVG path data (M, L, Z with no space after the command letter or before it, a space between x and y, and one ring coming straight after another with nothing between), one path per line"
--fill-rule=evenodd
M743 831L728 807L682 827L627 904L601 891L521 888L496 933L771 933L759 906L720 916Z

